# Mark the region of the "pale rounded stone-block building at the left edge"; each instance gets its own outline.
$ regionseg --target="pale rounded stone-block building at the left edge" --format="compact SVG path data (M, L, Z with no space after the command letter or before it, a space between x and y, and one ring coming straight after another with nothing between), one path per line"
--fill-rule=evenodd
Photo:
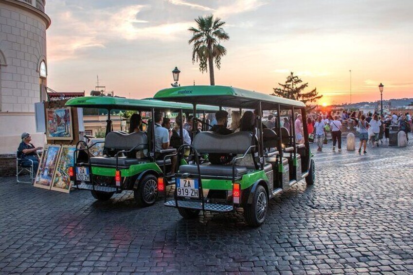
M45 0L0 0L0 154L16 152L22 132L42 146L35 103L46 100ZM1 158L1 156L0 156Z

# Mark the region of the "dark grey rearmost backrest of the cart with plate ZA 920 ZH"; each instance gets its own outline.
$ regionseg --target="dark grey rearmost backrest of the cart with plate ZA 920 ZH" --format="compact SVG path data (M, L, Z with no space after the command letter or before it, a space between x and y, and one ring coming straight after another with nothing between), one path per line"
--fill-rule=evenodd
M107 150L130 150L138 144L143 143L136 150L147 149L148 138L144 132L133 132L125 134L123 132L109 132L105 138L105 149Z

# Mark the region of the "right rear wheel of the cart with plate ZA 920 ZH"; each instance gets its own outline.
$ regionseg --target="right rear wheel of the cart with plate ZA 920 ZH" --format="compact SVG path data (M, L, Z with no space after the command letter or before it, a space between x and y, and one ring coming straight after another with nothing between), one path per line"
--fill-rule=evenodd
M138 188L133 190L136 204L141 207L154 204L158 198L158 179L147 174L137 184Z

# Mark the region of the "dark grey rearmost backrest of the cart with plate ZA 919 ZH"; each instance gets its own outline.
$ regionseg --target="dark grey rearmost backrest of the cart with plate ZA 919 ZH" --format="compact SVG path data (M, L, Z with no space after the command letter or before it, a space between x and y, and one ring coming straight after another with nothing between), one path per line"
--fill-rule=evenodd
M252 133L241 131L229 135L199 132L192 143L199 153L244 154L253 145Z

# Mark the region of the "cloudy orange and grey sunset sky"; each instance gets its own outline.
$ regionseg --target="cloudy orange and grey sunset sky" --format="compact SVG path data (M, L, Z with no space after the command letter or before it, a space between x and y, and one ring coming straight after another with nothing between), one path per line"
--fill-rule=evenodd
M320 104L413 97L412 0L48 0L48 86L89 94L153 96L173 82L209 85L192 64L194 18L226 22L228 54L216 85L271 93L289 72Z

